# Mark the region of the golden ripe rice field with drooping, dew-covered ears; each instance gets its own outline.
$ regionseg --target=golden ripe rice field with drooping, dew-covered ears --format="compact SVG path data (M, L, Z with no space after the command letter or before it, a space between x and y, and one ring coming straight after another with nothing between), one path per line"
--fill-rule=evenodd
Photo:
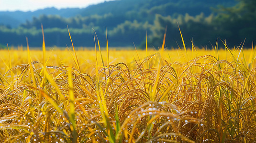
M256 142L256 48L72 48L0 51L1 143Z

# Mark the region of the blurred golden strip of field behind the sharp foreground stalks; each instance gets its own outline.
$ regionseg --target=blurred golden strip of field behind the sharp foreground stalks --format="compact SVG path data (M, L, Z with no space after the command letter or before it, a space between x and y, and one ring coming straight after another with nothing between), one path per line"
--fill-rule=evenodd
M46 58L48 59L47 65L51 66L63 66L63 65L73 65L75 66L75 62L72 57L72 51L69 50L60 50L60 49L52 49L49 50L50 48L47 48L48 50L46 51ZM78 48L80 50L76 51L77 56L78 56L78 61L81 67L82 72L86 72L88 74L94 73L95 70L95 64L96 64L96 59L95 59L95 50L88 50L85 48ZM107 51L104 50L104 47L102 52L102 57L103 59L107 59ZM254 48L255 49L255 48ZM234 54L235 57L238 57L239 52L241 49L233 49L231 50ZM1 54L1 61L0 62L0 73L7 72L9 70L8 64L9 64L9 52L10 52L10 59L12 65L20 65L20 64L27 64L28 63L28 58L27 58L27 51L26 50L0 50ZM43 54L41 50L32 50L31 52L31 59L32 61L43 61ZM157 50L149 50L148 55L153 55L159 53ZM239 60L242 62L246 62L245 64L248 64L250 62L250 58L252 57L252 49L245 49L244 50L244 55L241 52L239 55ZM188 49L186 52L180 49L170 49L170 50L165 50L165 52L162 54L162 58L165 59L167 62L179 62L179 63L186 63L196 57L199 56L204 56L204 55L212 55L215 58L219 57L219 60L226 60L229 62L234 61L231 53L225 49L219 49L219 50L206 50L206 49L196 49L193 51L191 49ZM109 51L109 58L110 58L110 64L116 64L118 62L124 62L128 64L128 66L134 66L136 67L136 61L139 63L140 61L144 60L146 58L146 51L145 50L132 50L130 48L129 50L123 50L122 48L117 49L117 50L110 50ZM101 57L99 56L98 53L98 61L101 63ZM107 61L104 61L104 65L107 65ZM255 67L256 63L254 63ZM132 67L131 67L132 68ZM132 68L134 69L134 68ZM92 75L92 74L90 74Z

